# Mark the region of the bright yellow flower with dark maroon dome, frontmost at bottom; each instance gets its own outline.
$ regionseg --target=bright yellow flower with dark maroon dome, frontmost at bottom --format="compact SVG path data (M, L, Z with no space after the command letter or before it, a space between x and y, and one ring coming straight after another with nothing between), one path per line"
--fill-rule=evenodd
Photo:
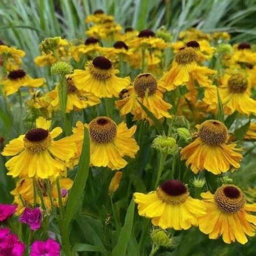
M203 201L189 196L187 187L179 180L167 180L156 191L134 193L140 216L151 218L160 228L175 230L198 226L198 218L205 214Z

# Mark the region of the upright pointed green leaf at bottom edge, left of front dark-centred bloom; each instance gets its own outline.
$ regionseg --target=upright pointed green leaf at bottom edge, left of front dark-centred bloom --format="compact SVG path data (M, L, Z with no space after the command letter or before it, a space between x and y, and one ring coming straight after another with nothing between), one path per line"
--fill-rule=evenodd
M134 217L134 200L131 199L131 203L126 213L125 224L123 225L120 235L117 240L117 245L115 245L112 256L125 256L127 245L130 240L131 230L133 229L133 217Z

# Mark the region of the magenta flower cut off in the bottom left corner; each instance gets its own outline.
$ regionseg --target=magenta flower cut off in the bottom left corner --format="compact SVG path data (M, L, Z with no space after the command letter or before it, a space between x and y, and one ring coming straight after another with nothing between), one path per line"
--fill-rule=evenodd
M15 234L11 234L7 228L0 229L0 255L22 256L25 245L18 240Z

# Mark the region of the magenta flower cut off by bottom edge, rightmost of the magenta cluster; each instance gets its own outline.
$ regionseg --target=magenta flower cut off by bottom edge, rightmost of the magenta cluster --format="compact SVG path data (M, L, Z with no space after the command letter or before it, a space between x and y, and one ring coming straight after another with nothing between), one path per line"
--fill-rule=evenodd
M60 245L49 238L46 241L35 241L32 243L30 256L60 256Z

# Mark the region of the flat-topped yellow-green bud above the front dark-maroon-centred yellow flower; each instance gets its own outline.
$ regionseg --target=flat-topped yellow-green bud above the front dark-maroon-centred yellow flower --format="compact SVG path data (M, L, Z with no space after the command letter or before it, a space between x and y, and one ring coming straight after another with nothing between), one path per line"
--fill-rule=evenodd
M178 151L175 138L166 137L162 135L159 135L154 139L152 147L170 155L175 155L177 154Z

